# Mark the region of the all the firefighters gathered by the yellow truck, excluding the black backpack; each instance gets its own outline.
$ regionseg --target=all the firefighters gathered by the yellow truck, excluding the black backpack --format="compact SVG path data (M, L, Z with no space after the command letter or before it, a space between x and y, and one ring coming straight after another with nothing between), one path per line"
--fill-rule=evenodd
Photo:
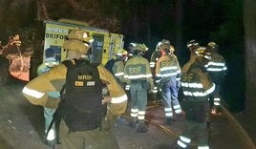
M63 49L68 51L67 60L73 63L75 59L89 61L92 44L90 33L76 29L70 32L68 37L62 45ZM174 54L174 47L166 39L157 44L150 62L143 57L148 51L144 44L130 43L127 51L117 51L112 67L113 74L104 66L97 65L99 79L106 85L105 92L108 93L102 100L102 104L108 103L108 112L106 118L103 118L102 129L100 127L72 132L62 118L59 124L61 147L118 148L115 136L106 126L108 121L121 119L127 108L127 95L130 97L129 110L132 117L129 126L138 133L147 132L145 114L150 91L159 93L167 125L172 125L175 115L185 115L186 127L177 141L177 148L189 148L195 141L198 149L209 149L206 118L211 109L213 113L218 113L216 107L221 104L219 92L226 70L224 57L218 53L218 45L214 42L202 47L195 40L191 40L187 43L187 48L190 51L190 59L182 68ZM51 58L43 67L38 67L38 76L26 84L22 93L32 104L45 107L45 128L48 132L46 137L53 140L56 138L54 127L49 125L60 102L60 91L67 81L67 68L62 63L53 64L53 67L50 64ZM178 99L180 88L181 104Z

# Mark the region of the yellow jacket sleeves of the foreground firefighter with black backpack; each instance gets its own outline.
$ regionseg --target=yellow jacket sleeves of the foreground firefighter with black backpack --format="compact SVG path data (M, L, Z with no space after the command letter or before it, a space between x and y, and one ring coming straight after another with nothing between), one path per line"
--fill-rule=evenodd
M75 61L73 60L75 63ZM127 96L116 78L104 66L98 65L99 78L106 84L111 96L109 104L112 114L123 114L127 106ZM64 64L53 67L49 72L32 79L22 90L23 95L34 105L56 109L60 99L48 96L49 92L60 92L66 82L67 68Z

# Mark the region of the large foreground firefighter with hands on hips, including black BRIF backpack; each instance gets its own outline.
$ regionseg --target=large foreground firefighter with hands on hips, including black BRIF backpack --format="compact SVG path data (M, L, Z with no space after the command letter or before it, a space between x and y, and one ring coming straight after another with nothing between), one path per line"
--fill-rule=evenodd
M104 66L90 63L91 39L82 29L70 32L62 46L67 60L35 77L22 90L32 104L56 109L62 149L119 148L109 124L125 112L127 96ZM102 83L110 96L102 96ZM47 94L56 91L61 91L60 99Z

